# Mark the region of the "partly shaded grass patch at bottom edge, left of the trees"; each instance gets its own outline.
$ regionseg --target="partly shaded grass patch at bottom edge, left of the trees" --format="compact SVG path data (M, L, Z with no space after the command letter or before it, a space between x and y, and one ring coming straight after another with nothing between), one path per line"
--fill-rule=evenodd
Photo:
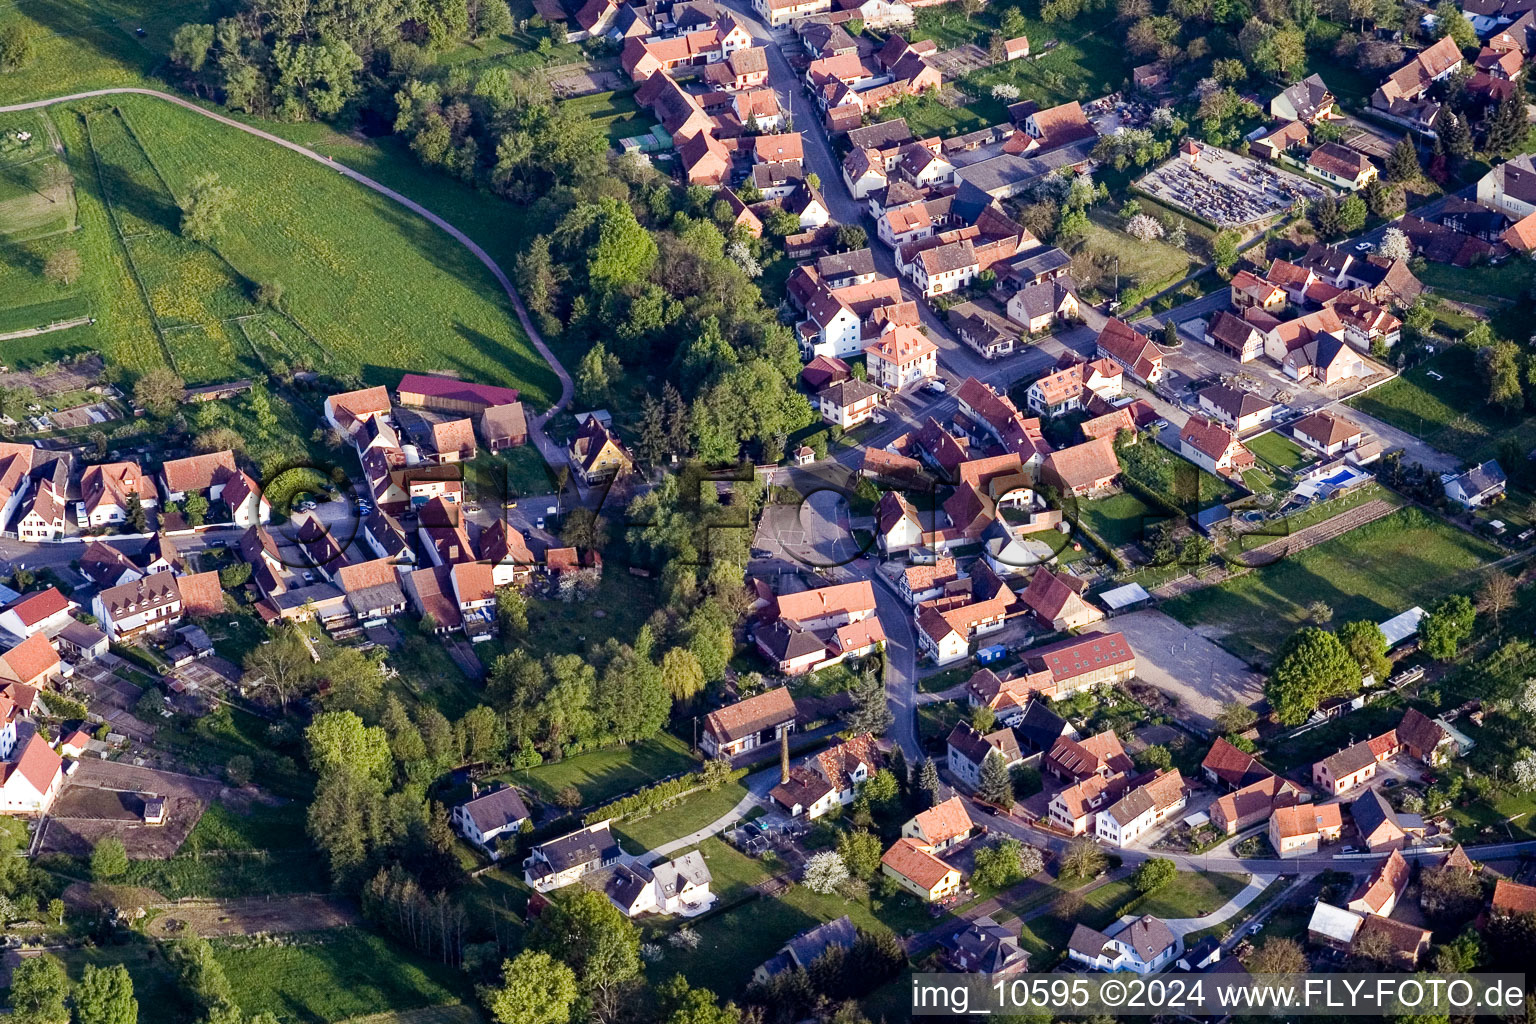
M323 1024L468 996L465 975L364 929L307 932L293 944L215 943L235 1004Z

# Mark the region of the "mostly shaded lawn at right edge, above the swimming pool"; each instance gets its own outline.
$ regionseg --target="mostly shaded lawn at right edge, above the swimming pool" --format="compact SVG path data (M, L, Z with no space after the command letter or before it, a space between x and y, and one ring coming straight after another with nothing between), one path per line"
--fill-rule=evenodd
M1468 464L1498 456L1505 444L1521 451L1536 447L1536 419L1501 411L1487 398L1476 352L1452 345L1350 405Z

